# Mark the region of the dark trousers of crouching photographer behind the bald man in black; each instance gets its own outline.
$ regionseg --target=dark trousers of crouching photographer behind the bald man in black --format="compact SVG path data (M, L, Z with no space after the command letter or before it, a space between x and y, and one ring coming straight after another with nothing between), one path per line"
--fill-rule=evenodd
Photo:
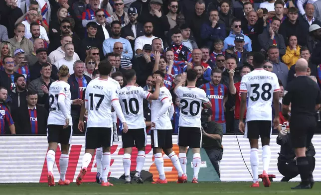
M313 172L316 166L315 157L311 157L311 161L309 161L309 166L310 166L311 172ZM281 180L283 182L288 182L289 180L297 177L300 174L295 161L291 163L286 163L285 161L279 161L278 170L284 176L284 178Z

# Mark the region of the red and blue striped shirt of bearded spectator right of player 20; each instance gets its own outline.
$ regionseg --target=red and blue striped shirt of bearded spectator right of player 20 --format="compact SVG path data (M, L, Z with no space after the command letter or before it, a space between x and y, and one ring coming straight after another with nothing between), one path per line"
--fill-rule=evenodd
M212 103L212 121L217 123L224 123L224 97L227 97L227 87L223 84L213 85L212 82L205 83L199 86L200 89L204 90L207 98Z

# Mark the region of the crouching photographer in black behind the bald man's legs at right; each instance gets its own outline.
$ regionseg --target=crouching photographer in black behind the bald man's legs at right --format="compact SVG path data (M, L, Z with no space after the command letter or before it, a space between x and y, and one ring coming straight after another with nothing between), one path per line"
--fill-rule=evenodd
M281 145L281 151L278 153L278 170L284 176L281 182L289 182L289 180L299 175L299 170L295 160L296 154L290 140L290 132L287 132L285 125L282 125L282 130L277 137L277 144ZM315 155L316 151L311 143L306 152L306 156L310 156L313 162L311 165L311 172L314 171L316 165Z

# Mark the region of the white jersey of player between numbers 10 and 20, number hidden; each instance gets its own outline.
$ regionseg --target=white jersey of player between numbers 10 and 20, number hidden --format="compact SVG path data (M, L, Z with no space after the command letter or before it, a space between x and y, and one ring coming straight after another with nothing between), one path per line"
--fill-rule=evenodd
M163 86L160 88L160 96L157 100L152 100L152 106L151 106L151 114L152 114L152 121L155 121L156 113L160 111L160 108L162 106L162 100L165 98L168 98L170 103L172 103L172 98L170 95L169 90ZM169 109L162 115L158 120L155 121L155 128L157 130L169 130L173 129L171 126L170 118L169 118Z

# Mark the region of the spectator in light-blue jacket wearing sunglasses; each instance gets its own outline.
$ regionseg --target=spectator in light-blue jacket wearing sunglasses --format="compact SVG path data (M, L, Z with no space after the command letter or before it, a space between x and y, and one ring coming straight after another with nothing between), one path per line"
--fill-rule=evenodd
M235 46L234 40L235 40L236 35L238 35L238 34L242 34L244 36L244 48L247 51L252 51L252 41L248 36L243 34L242 24L241 24L240 19L233 19L232 20L231 29L232 30L230 32L230 35L224 39L223 51Z

